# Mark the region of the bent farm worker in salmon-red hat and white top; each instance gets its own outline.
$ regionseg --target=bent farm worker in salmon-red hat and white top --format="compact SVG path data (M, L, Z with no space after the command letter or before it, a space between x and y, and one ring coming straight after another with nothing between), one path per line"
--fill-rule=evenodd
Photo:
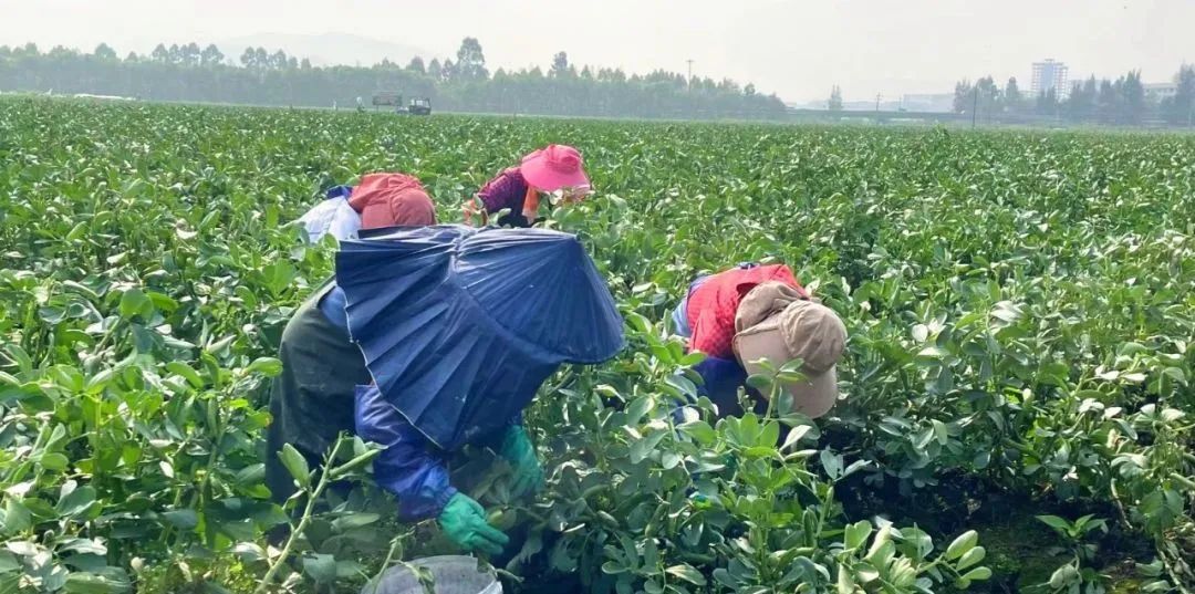
M361 228L435 225L435 204L413 176L367 173L357 186L337 185L326 198L299 218L307 241L324 235L356 237Z

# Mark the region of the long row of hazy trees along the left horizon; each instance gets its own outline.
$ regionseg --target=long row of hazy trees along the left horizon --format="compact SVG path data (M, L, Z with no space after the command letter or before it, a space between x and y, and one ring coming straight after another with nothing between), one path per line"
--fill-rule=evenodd
M477 38L461 42L456 55L406 65L388 60L369 67L313 67L282 50L249 48L237 63L216 45L159 44L148 55L121 59L108 44L90 54L33 44L0 47L0 90L94 93L148 100L331 106L366 104L380 91L429 97L449 111L571 116L778 118L784 104L754 85L724 79L686 79L656 71L626 74L617 68L580 71L560 51L539 67L497 69L492 74Z

